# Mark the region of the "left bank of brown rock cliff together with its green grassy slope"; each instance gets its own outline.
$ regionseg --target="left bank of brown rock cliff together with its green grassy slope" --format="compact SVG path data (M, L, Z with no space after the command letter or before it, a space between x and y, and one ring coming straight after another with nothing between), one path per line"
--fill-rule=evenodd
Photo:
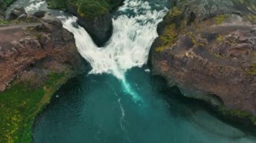
M14 9L17 19L0 24L0 142L32 142L34 117L60 85L86 69L61 21L34 15Z

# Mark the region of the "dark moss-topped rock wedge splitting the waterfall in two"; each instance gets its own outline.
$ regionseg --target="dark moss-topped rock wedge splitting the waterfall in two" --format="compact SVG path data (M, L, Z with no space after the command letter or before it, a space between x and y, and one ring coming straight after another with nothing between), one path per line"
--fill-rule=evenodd
M104 46L113 32L112 12L124 0L47 0L49 8L63 9L78 17L77 23L84 27L98 46Z

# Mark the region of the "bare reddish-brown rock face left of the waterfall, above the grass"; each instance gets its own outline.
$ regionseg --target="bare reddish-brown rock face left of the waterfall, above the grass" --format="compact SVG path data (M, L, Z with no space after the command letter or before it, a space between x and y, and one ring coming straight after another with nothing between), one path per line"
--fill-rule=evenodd
M73 34L49 15L36 23L0 27L0 91L16 79L34 77L40 84L49 73L81 73L83 63Z

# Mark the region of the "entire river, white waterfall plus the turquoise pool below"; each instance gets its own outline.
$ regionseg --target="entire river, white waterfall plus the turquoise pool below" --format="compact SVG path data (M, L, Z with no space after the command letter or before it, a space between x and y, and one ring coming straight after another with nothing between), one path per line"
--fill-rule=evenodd
M72 32L92 70L67 82L34 124L34 142L256 142L212 115L201 101L182 97L152 77L146 62L157 25L170 1L126 0L113 15L113 36L97 47L76 17L47 9L45 1L19 0L28 13L48 11Z

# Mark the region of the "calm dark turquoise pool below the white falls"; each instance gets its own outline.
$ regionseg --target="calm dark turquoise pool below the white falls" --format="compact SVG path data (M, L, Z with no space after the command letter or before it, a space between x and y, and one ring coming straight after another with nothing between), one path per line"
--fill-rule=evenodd
M139 101L112 75L69 81L37 118L34 142L255 142L144 69L126 77Z

